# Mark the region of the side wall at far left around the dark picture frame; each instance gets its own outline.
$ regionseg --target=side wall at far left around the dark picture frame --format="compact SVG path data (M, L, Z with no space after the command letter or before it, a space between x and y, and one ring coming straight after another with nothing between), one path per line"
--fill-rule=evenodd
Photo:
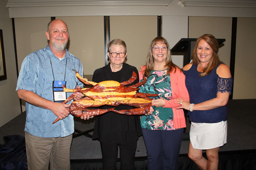
M12 22L6 7L0 5L0 29L3 31L7 79L0 81L0 127L20 114Z

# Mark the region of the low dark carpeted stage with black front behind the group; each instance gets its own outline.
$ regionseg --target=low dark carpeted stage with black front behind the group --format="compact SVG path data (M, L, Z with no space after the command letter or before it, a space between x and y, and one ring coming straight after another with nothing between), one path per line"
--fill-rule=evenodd
M227 144L220 148L220 158L223 158L223 160L220 159L220 164L223 166L220 166L219 169L232 169L232 167L233 169L250 169L256 167L255 103L256 99L228 101L229 115ZM93 129L95 118L84 121L76 117L74 120L76 130L86 131ZM24 136L24 127L25 113L21 113L19 116L0 127L0 143L4 143L3 136L13 134ZM78 135L77 132L74 134ZM92 134L92 132L86 134L86 136L81 135L73 138L70 154L71 163L73 164L72 169L88 169L85 164L89 162L91 166L101 167L100 143L99 141L92 140L88 137L90 134ZM184 133L179 160L182 167L179 169L184 167L193 169L194 167L193 162L187 158L188 138L189 134ZM227 161L227 157L231 158L235 155L236 157L234 159ZM246 159L241 159L241 155ZM137 142L136 160L137 166L140 167L138 169L146 169L146 148L142 136ZM184 161L186 161L186 163ZM231 163L236 163L237 166L229 165ZM245 164L248 165L248 167L245 167ZM80 168L77 168L77 166ZM197 167L195 166L194 169L196 168Z

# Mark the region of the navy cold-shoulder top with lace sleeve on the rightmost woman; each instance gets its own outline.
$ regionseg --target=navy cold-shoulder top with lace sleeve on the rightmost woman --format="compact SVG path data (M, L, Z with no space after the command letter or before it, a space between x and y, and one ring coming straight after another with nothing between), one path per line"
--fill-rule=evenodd
M218 66L222 64L219 63ZM232 78L221 78L216 73L216 66L208 75L200 76L197 65L184 71L185 83L190 97L190 103L198 104L217 97L217 93L231 93ZM210 109L188 111L189 120L195 123L217 123L227 120L227 105Z

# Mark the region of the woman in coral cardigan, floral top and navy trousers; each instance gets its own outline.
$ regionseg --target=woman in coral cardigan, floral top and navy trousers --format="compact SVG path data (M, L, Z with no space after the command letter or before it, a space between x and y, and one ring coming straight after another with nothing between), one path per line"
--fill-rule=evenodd
M147 149L148 170L176 170L186 120L181 106L174 103L176 98L189 101L185 86L185 75L173 64L168 42L163 37L152 40L146 65L139 71L147 82L139 92L156 93L159 97L152 100L154 112L141 116L141 127Z

